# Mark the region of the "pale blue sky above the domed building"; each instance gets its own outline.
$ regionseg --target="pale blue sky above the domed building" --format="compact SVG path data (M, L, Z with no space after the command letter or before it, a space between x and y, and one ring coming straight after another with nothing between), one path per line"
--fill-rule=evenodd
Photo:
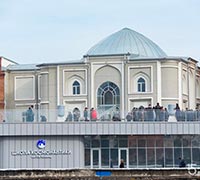
M19 64L80 60L125 27L168 56L200 61L200 0L0 0L0 56Z

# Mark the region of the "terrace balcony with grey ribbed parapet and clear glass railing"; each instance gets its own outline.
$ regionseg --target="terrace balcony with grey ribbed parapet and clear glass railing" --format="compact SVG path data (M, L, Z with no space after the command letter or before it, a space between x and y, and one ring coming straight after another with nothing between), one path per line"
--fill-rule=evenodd
M45 112L45 115L44 115ZM138 112L139 113L139 112ZM83 114L79 118L68 119L61 116L57 110L33 110L32 121L27 120L23 110L1 111L1 136L16 135L177 135L200 134L199 111L182 111L176 119L160 112L159 120L156 116L148 119L147 112L142 118L97 118L84 120ZM66 114L66 113L64 113ZM104 114L105 115L105 114ZM43 117L45 116L45 118ZM147 116L147 117L146 117ZM139 115L138 115L139 117ZM167 119L164 117L168 117Z

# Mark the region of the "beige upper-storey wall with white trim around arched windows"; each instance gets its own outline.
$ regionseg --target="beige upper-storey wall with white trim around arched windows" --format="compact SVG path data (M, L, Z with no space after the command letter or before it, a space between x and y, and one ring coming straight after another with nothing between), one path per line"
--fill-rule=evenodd
M167 107L169 103L181 102L181 107L194 109L196 98L200 98L200 73L198 71L198 79L196 73L194 62L173 59L159 61L159 63L156 60L128 61L124 57L95 57L90 58L86 64L44 66L38 72L7 71L5 75L6 108L15 109L19 106L25 108L37 102L36 99L14 99L15 77L35 76L35 93L37 94L37 79L39 78L40 98L38 101L43 111L45 108L56 111L57 105L64 105L71 109L78 105L80 108L96 107L97 89L107 81L119 87L120 102L121 105L123 104L121 107L124 107L125 112L137 104L144 103L146 106L151 103L154 106L159 99L164 107ZM139 76L143 76L146 80L147 91L144 93L136 92L135 82ZM74 80L81 83L80 95L72 94ZM122 96L123 91L124 96ZM49 116L50 113L44 112L44 114ZM56 119L56 113L54 114L50 118Z

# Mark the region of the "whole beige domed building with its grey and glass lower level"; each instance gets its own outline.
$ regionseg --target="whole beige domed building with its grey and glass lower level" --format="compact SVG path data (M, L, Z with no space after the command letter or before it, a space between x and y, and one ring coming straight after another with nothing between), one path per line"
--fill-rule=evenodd
M9 65L0 168L200 166L200 69L124 28L80 61Z

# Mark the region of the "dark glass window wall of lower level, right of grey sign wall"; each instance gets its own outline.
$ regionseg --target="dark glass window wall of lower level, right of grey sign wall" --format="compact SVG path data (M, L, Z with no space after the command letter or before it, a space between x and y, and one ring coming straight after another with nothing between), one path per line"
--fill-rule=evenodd
M94 167L90 165L92 149L99 152L99 165L104 168L109 168L111 164L118 168L120 158L128 158L126 163L129 168L178 167L179 157L186 164L200 166L199 141L200 136L186 135L86 137L85 166ZM123 153L127 156L122 156Z

